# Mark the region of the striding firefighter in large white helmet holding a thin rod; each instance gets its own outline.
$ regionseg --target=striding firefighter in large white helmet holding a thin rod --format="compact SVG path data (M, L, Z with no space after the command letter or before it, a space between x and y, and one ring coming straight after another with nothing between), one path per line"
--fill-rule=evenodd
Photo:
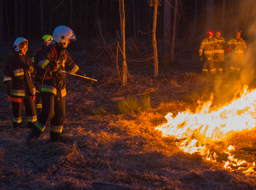
M32 143L40 136L48 121L51 121L51 142L61 142L66 95L65 73L62 70L85 76L66 50L70 40L76 40L74 32L66 26L58 26L54 29L52 38L52 42L43 50L36 65L37 74L42 78L42 112L27 137L28 143Z

